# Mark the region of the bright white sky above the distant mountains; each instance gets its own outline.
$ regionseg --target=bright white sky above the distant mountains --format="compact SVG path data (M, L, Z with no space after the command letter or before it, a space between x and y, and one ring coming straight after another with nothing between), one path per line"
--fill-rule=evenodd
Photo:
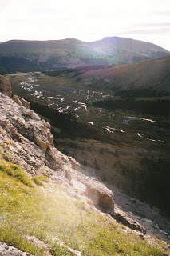
M133 38L170 50L170 0L0 0L0 42Z

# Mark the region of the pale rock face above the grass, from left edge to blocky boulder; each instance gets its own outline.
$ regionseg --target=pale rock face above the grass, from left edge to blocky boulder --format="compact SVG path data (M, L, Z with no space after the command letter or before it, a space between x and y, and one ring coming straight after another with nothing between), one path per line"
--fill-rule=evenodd
M3 158L21 166L28 175L45 175L65 186L69 195L113 213L111 190L81 173L80 164L53 145L51 126L30 110L29 102L0 94L0 150Z

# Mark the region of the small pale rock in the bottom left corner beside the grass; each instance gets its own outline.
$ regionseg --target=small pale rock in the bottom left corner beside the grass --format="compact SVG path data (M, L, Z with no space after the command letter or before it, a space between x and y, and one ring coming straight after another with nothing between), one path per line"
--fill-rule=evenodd
M31 254L18 250L14 246L7 246L5 242L0 242L0 256L31 256Z

